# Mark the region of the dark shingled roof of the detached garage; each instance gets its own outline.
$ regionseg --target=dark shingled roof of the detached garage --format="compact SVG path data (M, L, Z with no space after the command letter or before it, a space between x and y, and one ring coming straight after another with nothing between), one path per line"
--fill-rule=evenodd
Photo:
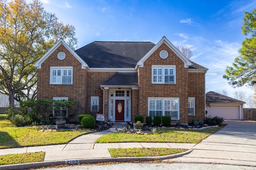
M228 96L216 93L216 92L208 92L206 93L206 100L210 103L244 103L243 101L234 99L234 98L230 98Z

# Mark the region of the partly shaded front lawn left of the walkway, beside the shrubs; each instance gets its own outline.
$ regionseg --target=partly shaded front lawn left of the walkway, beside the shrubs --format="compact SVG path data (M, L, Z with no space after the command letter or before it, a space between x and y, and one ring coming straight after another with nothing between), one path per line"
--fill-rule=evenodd
M16 127L0 115L0 149L66 144L92 131L39 132L40 127Z

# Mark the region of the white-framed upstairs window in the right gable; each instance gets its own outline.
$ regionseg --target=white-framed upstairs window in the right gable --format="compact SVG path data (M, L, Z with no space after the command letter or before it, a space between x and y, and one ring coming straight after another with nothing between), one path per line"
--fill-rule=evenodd
M176 84L176 66L152 66L152 84Z

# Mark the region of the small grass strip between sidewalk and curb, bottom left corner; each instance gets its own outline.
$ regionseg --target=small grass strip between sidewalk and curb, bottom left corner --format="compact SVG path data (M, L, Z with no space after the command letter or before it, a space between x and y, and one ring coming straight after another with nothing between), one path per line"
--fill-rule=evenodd
M22 164L44 161L45 152L0 155L0 165Z

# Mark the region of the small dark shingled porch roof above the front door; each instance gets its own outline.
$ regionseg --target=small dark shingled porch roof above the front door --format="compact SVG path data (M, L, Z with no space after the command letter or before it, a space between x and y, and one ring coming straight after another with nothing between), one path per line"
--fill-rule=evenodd
M101 86L138 86L138 74L137 72L117 72Z

